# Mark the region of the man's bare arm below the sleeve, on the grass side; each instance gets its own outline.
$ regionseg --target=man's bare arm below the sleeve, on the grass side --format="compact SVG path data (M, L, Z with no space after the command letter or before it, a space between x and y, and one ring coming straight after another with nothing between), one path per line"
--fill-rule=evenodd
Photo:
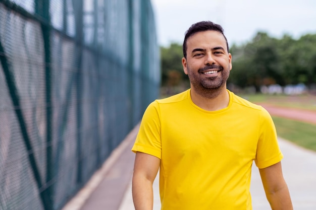
M290 193L282 174L281 162L259 169L266 196L273 210L293 210Z

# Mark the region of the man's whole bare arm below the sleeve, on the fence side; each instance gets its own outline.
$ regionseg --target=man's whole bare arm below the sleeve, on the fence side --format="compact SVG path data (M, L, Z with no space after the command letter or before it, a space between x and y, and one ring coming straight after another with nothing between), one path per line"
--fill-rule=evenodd
M152 210L152 183L159 167L159 158L145 153L136 153L132 180L132 194L136 210Z

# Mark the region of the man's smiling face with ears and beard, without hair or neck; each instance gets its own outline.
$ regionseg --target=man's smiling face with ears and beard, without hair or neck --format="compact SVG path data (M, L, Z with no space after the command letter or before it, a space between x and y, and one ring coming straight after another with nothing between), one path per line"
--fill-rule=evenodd
M186 44L187 58L182 58L182 65L191 88L201 91L226 88L232 56L224 36L217 31L198 32Z

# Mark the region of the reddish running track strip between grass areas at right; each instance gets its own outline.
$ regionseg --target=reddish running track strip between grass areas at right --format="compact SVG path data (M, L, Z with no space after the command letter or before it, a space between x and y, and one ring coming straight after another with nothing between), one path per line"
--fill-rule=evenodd
M285 117L289 119L294 119L302 122L308 122L316 125L316 111L295 109L295 108L286 108L286 107L278 107L269 104L260 104L267 111L273 115L278 117Z

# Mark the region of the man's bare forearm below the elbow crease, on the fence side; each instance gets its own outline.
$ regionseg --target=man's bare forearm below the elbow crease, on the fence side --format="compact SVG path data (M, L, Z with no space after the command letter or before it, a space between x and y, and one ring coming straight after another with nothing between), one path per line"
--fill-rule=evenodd
M136 210L152 210L152 182L144 178L134 176L132 182L132 195Z

